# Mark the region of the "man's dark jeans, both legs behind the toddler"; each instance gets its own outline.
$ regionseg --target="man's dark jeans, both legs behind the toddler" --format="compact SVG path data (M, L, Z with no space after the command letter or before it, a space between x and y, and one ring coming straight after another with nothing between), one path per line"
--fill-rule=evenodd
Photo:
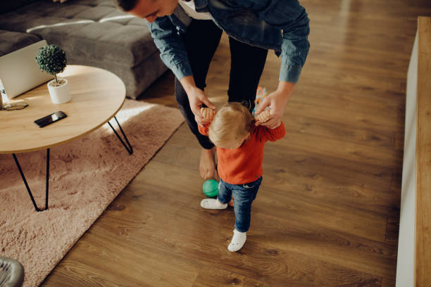
M182 39L187 50L196 87L204 90L206 74L214 56L222 30L212 20L192 20ZM250 111L254 108L256 89L265 66L268 50L250 46L229 38L230 45L230 79L227 91L228 101L249 103ZM213 148L213 143L199 133L194 114L190 109L189 98L180 82L175 78L175 99L190 130L203 148Z

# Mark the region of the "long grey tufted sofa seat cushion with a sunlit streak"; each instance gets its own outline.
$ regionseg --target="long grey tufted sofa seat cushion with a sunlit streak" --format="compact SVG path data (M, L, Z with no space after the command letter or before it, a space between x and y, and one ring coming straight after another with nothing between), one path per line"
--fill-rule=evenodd
M80 58L130 67L157 49L146 20L118 11L111 0L39 1L1 15L0 29L34 34Z

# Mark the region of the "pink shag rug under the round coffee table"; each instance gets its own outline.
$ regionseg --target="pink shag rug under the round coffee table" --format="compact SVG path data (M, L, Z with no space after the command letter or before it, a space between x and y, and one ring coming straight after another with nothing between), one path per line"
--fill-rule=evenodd
M134 153L127 153L108 124L51 148L49 209L43 212L35 211L12 155L0 154L0 255L23 264L23 286L42 283L183 122L175 108L132 100L117 119ZM115 120L111 125L118 130ZM46 150L17 157L44 208Z

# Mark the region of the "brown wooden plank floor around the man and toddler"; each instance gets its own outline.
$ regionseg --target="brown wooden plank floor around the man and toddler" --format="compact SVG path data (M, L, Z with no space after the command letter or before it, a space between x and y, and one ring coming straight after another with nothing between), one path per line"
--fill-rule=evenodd
M199 146L182 125L42 286L394 286L404 104L416 17L429 0L304 0L311 51L267 144L251 229L199 207ZM270 52L261 85L277 87ZM208 95L226 101L223 36ZM175 106L166 73L142 101Z

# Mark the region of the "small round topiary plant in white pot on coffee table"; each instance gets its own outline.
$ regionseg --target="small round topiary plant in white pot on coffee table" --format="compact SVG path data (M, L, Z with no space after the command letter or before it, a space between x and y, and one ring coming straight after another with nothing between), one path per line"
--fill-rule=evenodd
M55 77L55 79L48 82L51 101L53 103L66 103L70 101L68 80L57 79L57 74L63 72L67 63L65 52L56 45L42 46L36 53L36 62L40 70Z

